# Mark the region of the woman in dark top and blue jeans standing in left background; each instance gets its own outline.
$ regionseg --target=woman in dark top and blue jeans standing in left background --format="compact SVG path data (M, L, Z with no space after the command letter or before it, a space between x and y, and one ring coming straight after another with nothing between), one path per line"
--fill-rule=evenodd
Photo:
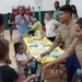
M12 14L8 13L8 24L9 24L9 30L10 30L10 40L12 40L12 33L13 33L13 19L12 19Z

